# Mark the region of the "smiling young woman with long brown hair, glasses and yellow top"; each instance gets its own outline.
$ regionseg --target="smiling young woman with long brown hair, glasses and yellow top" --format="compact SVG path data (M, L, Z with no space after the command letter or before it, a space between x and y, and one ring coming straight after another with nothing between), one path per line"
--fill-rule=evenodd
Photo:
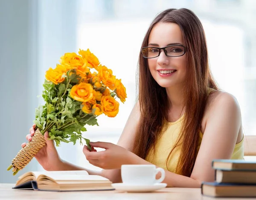
M89 174L121 182L122 164L154 164L169 187L200 187L213 181L213 159L243 159L241 113L236 99L221 92L208 64L204 29L188 9L155 17L139 57L139 96L114 145L94 142L86 159L102 171ZM35 125L26 139L35 132ZM51 140L35 158L45 170L81 170L61 160ZM23 143L24 147L26 143ZM159 174L157 174L158 176Z

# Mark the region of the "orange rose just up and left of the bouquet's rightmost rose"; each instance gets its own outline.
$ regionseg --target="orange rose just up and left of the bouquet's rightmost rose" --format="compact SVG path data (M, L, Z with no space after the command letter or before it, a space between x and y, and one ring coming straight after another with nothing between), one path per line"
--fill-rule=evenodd
M100 65L99 78L102 80L102 83L105 84L105 86L109 87L111 90L115 89L114 84L116 78L112 75L112 70Z

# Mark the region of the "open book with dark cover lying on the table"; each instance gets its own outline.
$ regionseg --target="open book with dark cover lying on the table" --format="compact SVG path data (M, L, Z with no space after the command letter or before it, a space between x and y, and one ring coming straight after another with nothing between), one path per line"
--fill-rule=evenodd
M48 191L113 190L112 182L87 171L31 171L21 175L13 189Z

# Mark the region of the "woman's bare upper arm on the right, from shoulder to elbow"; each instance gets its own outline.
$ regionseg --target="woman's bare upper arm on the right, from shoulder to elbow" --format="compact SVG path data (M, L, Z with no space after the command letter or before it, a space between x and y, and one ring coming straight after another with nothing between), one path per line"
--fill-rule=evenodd
M214 181L212 160L230 159L238 136L242 139L242 135L238 102L229 93L218 94L209 108L204 136L191 177L200 181Z

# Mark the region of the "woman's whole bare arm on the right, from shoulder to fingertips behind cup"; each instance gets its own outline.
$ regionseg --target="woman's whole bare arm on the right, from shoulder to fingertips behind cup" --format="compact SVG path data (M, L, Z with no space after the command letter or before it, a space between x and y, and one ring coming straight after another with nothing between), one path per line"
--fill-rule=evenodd
M167 183L168 187L199 188L202 181L214 181L214 170L211 165L213 159L230 159L241 127L239 105L233 96L221 93L212 102L209 110L204 137L191 177L165 170L166 178L163 182ZM124 134L122 138L128 139L128 136ZM96 142L92 145L106 149L101 152L84 151L93 165L102 168L120 168L122 164L151 164L130 151L108 142ZM115 162L110 163L108 160ZM117 171L118 174L114 174ZM121 181L119 169L114 169L113 173L108 175L112 175L109 177L111 180ZM157 178L159 175L157 174Z

